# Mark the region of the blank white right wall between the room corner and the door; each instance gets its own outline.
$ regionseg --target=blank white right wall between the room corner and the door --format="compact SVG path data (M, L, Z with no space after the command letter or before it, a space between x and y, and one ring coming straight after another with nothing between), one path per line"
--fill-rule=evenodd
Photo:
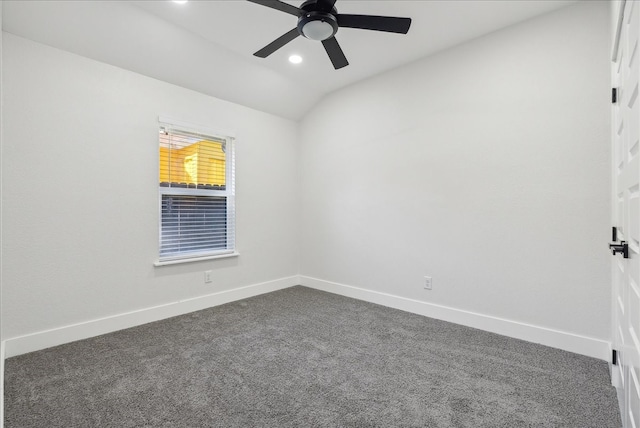
M608 25L581 2L325 98L301 275L608 340Z

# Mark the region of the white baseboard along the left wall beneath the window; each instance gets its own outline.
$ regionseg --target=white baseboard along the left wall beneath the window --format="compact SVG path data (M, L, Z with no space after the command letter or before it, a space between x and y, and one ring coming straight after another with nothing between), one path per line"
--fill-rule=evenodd
M3 342L3 345L5 345L4 352L6 353L6 357L10 358L16 355L26 354L27 352L38 351L76 340L87 339L89 337L171 318L201 309L223 305L236 300L289 288L298 284L300 284L300 277L294 275L260 284L167 303L165 305L40 331L25 336L13 337Z

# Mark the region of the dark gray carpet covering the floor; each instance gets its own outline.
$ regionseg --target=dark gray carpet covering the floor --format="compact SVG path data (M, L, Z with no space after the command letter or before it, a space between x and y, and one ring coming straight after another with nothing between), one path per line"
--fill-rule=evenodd
M304 287L6 361L6 428L619 428L603 361Z

